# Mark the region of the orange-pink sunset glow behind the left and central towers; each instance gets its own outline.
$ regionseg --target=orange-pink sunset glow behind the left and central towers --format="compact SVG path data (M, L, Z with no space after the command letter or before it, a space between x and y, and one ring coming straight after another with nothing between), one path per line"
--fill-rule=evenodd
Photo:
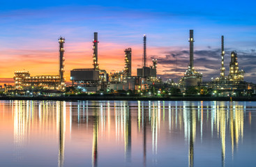
M0 68L0 84L11 84L15 70L28 70L31 76L59 74L59 51L58 44L45 42L52 47L43 47L40 49L4 49L3 60ZM33 46L32 46L33 47ZM137 74L137 68L142 66L142 45L123 46L116 43L100 42L98 45L98 63L102 70L108 73L123 70L124 67L124 49L132 48L132 74ZM66 81L70 81L70 70L75 68L92 68L92 43L76 42L64 45L65 53L65 73ZM163 55L163 51L167 48L148 47L147 61L148 66L152 64L151 55ZM160 65L158 65L158 74L162 73Z

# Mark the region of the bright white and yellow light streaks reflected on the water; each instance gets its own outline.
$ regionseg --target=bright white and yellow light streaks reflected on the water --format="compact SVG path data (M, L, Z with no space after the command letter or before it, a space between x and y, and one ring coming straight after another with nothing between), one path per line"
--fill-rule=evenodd
M70 112L69 114L67 113L68 116L70 116L70 136L71 129L75 127L71 126L72 123L73 125L77 123L77 125L80 126L82 125L83 121L86 121L86 128L91 128L91 102L73 102L73 109L75 109L75 111L72 110L72 102L68 102L67 104L69 104L69 109L67 108L67 110ZM97 114L98 137L100 137L100 139L105 138L105 136L112 138L112 134L114 135L115 133L116 136L113 136L114 140L116 140L116 143L122 142L121 144L124 145L125 152L129 152L128 147L130 147L128 146L130 145L129 138L131 135L129 132L130 124L134 125L133 133L135 129L138 129L138 133L140 133L140 135L143 134L144 130L142 129L144 129L145 126L149 127L147 127L146 134L147 137L152 138L152 141L149 140L152 142L152 145L148 147L152 147L153 154L157 154L158 142L160 143L160 139L165 137L162 136L162 129L169 129L170 132L179 130L179 132L184 134L186 142L190 142L190 139L192 142L194 142L196 137L198 137L198 139L201 137L201 141L204 139L203 132L206 133L206 130L208 129L206 126L209 126L211 129L210 133L213 138L215 138L217 135L220 137L223 163L227 154L225 150L227 144L225 143L225 139L230 138L232 154L236 148L238 148L241 140L243 140L243 119L245 117L244 111L246 111L246 109L244 106L239 105L239 103L236 102L137 101L132 102L132 104L133 107L130 107L130 104L125 101L103 101L95 103L93 102L92 105L95 106L95 108L93 108L93 113L95 111ZM54 113L61 110L61 103L57 103L56 106L54 106L52 102L36 103L34 101L17 101L11 105L13 106L14 111L14 139L16 145L23 145L29 138L29 132L31 129L35 128L35 125L37 124L39 125L38 128L40 128L40 131L46 131L46 129L49 127L54 127L54 130L58 130L62 126L63 128L66 127L66 121L63 122L63 125L61 125L59 122L60 119L66 120L66 114L63 115L63 118L61 118L59 115L60 113ZM66 113L66 107L64 107L65 105L66 103L63 104L63 113ZM75 105L77 105L77 109ZM54 107L56 107L56 109ZM74 120L72 122L72 111L73 119L77 119L78 122ZM129 115L130 112L131 115ZM113 113L114 116L112 115ZM133 116L131 122L129 122L130 116ZM247 116L248 122L251 124L251 113L248 112ZM166 120L165 117L167 117ZM51 126L52 124L54 124L54 126ZM55 125L57 128L55 128ZM80 126L80 128L82 128L82 126ZM65 132L65 130L66 129L64 128L60 132ZM195 133L196 130L197 136ZM199 133L201 133L201 136ZM133 137L136 137L136 134ZM64 134L63 138L65 138ZM61 145L64 146L64 144L60 143L60 146ZM62 153L60 153L60 156L61 154ZM192 156L192 154L190 154L190 156Z

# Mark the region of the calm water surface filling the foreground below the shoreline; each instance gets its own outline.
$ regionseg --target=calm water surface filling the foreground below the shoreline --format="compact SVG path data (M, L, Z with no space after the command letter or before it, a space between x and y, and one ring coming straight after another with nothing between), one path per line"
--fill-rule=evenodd
M256 102L0 101L0 166L255 166Z

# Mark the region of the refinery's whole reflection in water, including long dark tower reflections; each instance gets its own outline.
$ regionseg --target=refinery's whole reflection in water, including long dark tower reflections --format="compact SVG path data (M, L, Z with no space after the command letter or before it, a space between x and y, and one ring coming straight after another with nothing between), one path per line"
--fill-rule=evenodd
M232 155L243 140L243 125L246 109L244 106L229 105L225 102L140 102L138 108L130 109L130 102L21 102L10 103L13 107L14 140L17 149L27 144L32 132L42 134L57 134L59 140L59 166L63 166L65 143L70 135L76 135L76 130L84 129L91 137L91 161L97 166L100 143L104 138L111 142L122 143L126 161L130 161L132 138L142 136L142 150L146 164L146 152L158 154L160 140L170 132L179 129L188 142L188 164L193 166L195 140L204 140L204 133L220 136L221 157L225 164L226 141L230 137ZM198 108L193 107L197 105ZM96 107L96 109L92 108ZM1 106L2 107L2 106ZM54 112L52 112L54 111ZM4 113L4 110L3 112ZM5 113L6 114L6 113ZM249 118L250 119L250 118ZM166 126L167 125L167 126ZM51 130L49 130L51 129ZM137 129L137 130L136 130ZM161 130L160 130L161 129ZM83 130L83 131L84 131ZM73 132L74 131L74 132ZM137 133L137 134L136 134ZM114 134L114 135L113 135ZM40 135L37 133L37 135ZM84 134L80 134L84 135ZM135 136L134 136L135 135ZM88 137L87 137L88 138ZM151 143L151 145L146 145ZM136 146L137 147L137 146Z

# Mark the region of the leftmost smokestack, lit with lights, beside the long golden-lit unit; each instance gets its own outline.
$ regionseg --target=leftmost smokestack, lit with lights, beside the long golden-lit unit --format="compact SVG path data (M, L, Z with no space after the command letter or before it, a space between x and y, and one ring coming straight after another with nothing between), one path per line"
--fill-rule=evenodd
M65 38L59 38L59 78L60 78L60 86L61 90L65 88L65 79L64 79L64 44Z

